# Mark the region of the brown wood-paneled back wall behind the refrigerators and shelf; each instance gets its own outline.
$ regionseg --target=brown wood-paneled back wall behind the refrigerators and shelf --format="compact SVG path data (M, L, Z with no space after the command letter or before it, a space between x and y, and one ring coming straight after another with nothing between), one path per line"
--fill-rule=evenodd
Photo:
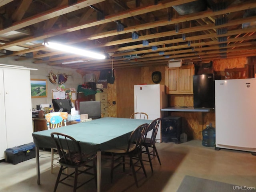
M213 61L216 74L224 76L225 68L242 68L247 58L221 59ZM130 118L134 112L134 85L154 84L151 74L154 71L162 73L160 84L165 84L165 66L150 66L142 68L125 68L115 70L114 84L108 84L108 116ZM116 101L116 105L112 102ZM168 95L168 106L193 106L193 95ZM207 124L215 127L215 111L210 112L172 112L168 115L182 117L182 131L188 139L202 140L202 130Z

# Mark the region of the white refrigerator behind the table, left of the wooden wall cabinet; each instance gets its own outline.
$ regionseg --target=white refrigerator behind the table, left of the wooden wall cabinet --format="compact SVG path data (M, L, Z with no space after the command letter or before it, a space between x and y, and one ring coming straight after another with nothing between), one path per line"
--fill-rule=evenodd
M134 85L134 112L145 112L149 120L164 117L162 108L168 106L165 86L160 84ZM150 137L150 132L147 137ZM161 123L156 135L156 141L162 142Z

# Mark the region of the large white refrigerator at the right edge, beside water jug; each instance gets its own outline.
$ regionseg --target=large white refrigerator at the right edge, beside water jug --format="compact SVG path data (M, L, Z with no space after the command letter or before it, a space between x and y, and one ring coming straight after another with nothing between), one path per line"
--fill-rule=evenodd
M215 80L216 149L256 152L256 79Z

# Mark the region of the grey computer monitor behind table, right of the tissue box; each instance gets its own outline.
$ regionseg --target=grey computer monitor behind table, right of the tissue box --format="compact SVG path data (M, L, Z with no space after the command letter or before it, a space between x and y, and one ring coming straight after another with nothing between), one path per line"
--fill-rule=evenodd
M98 119L101 116L100 101L80 102L80 114L88 114L88 118Z

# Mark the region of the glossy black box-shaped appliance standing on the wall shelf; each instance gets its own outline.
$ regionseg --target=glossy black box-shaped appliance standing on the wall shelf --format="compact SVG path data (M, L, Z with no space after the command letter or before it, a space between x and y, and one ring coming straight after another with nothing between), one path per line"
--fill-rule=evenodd
M193 76L194 108L215 108L214 74Z

